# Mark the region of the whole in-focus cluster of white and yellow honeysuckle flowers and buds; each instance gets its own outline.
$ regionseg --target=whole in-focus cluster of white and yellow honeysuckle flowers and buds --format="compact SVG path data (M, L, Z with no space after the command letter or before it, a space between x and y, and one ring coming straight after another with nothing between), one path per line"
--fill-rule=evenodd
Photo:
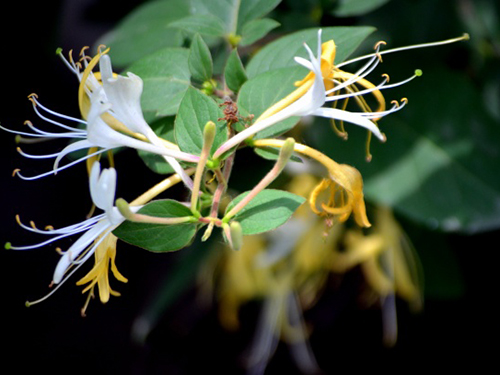
M298 64L309 70L303 80L296 82L297 89L278 103L273 104L246 129L231 136L215 151L211 160L209 160L209 151L215 132L213 123L209 122L205 127L204 145L200 155L183 152L176 144L158 137L145 121L140 104L143 81L132 73L127 73L126 76L114 73L107 49L100 48L93 58L86 56L82 51L82 58L76 62L72 59L71 54L66 59L59 53L64 63L80 81L78 99L81 119L56 113L43 106L36 95L31 95L29 99L33 103L33 108L38 116L59 130L55 132L45 131L35 127L29 121L25 125L31 131L23 132L1 128L15 133L20 138L40 137L76 140L62 151L50 155L31 155L19 149L19 152L25 157L34 159L53 158L55 161L52 170L46 173L37 176L25 176L19 170L16 170L16 174L22 179L33 180L55 174L76 163L86 161L89 172L90 195L94 205L101 209L103 213L75 225L47 230L40 230L34 225L25 225L18 218L19 224L24 229L48 235L51 238L39 244L28 246L14 246L7 243L6 248L8 249L29 250L40 248L67 236L81 234L81 237L69 249L60 251L61 259L53 276L53 283L57 284L57 287L47 296L30 303L40 302L54 293L65 280L92 256L95 256L94 267L77 284L88 284L84 291L89 292L89 297L93 295L97 285L102 302L108 301L110 295L119 295L110 288L109 268L111 268L113 275L118 280L127 281L115 266L117 238L112 233L125 220L154 222L165 225L183 222L209 224L209 229L205 232L204 238L210 235L213 226L219 226L223 229L225 238L233 249L243 247L244 251L241 253L246 252L247 245L244 245L242 241L241 228L238 228L238 223L232 221L232 219L283 171L293 152L312 159L326 168L326 177L319 181L309 193L309 206L315 214L319 215L321 220L326 220L329 223L343 223L353 214L355 222L360 227L369 227L371 224L366 215L362 178L355 168L338 164L321 152L299 144L291 138L286 140L253 140L252 137L256 133L292 116L320 116L340 121L342 123L341 127L335 127L335 129L341 135L346 134L343 122L349 122L368 129L370 133L384 141L385 136L379 130L377 121L400 110L407 101L406 99L402 99L400 102L395 101L392 103L392 107L387 108L381 90L404 84L421 75L421 72L416 71L412 77L395 84L388 83L388 76L384 76L382 82L378 85L369 82L365 77L381 61L380 56L383 53L391 52L391 50L380 51L381 46L382 44L377 44L375 52L372 54L334 65L335 43L333 40L322 43L320 30L318 32L316 53L305 44L304 47L307 50L309 59L295 58ZM365 59L367 62L355 73L347 73L340 69L350 62L360 59ZM97 66L99 66L99 71L94 72ZM367 94L375 98L378 103L377 110L372 111L368 106L364 99ZM336 108L337 102L344 101L346 103L349 99L353 99L361 111L352 112L346 110L345 107L342 109ZM333 106L328 106L329 103L333 103ZM212 165L217 165L221 161L225 161L226 166L229 165L232 153L244 141L245 144L252 147L280 149L280 156L275 167L251 190L245 199L241 200L222 219L219 219L217 214L221 196L227 188L223 181L227 181L228 176L218 176L221 188L217 189L214 194L214 204L210 216L203 217L200 215L198 208L200 184L207 163L211 162ZM115 201L116 170L113 166L101 170L99 155L119 147L129 147L161 155L171 165L175 173L130 204L124 201ZM89 150L86 156L61 165L61 161L65 156L82 149ZM185 168L181 163L190 165L190 167ZM230 173L230 168L226 170L227 173ZM193 174L194 178L191 178ZM138 213L143 205L179 182L182 182L190 190L192 216L185 218L155 218ZM320 198L325 195L327 196L326 199Z

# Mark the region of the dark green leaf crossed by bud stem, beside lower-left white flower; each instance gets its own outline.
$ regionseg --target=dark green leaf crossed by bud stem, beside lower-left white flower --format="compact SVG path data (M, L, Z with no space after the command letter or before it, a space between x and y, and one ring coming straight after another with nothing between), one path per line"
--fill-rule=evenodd
M157 217L191 216L191 210L171 200L158 200L141 208L139 213ZM113 232L115 236L132 245L155 253L176 251L188 246L196 234L195 223L158 225L125 221Z

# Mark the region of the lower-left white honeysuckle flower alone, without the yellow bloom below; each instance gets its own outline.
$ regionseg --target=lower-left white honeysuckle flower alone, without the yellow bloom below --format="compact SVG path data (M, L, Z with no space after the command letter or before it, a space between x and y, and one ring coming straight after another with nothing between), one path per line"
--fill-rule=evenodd
M100 208L103 213L91 217L81 223L70 225L59 229L38 229L33 224L31 226L18 222L22 228L38 233L52 236L49 240L40 242L34 245L12 246L10 243L5 245L6 249L12 250L32 250L44 247L50 243L60 239L81 234L81 237L73 243L65 252L61 252L61 259L57 263L53 275L53 283L62 285L79 266L85 263L95 252L97 247L117 226L125 221L125 218L120 214L115 207L115 191L116 191L116 170L114 168L104 169L101 172L99 162L94 162L89 176L90 196L92 202L97 208ZM137 212L142 206L131 206L132 212ZM68 273L70 268L73 270ZM57 290L57 287L42 299L31 302L37 303L48 298Z

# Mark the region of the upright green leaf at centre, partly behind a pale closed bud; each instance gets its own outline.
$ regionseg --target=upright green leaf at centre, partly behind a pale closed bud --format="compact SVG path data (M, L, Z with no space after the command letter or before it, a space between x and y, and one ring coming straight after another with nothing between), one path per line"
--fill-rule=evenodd
M175 119L174 134L179 148L191 154L199 155L203 147L203 129L208 121L217 125L217 134L212 146L212 153L227 140L222 109L210 97L190 87L179 106Z

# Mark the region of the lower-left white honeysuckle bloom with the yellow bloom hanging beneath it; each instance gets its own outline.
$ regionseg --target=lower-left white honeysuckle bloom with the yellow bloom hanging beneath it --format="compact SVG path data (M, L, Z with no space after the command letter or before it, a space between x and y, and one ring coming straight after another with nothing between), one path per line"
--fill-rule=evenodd
M37 229L34 225L27 226L19 224L26 230L34 233L49 235L52 238L35 245L27 246L12 246L10 243L6 245L7 249L13 250L30 250L43 247L57 240L82 234L73 245L65 252L61 252L61 259L53 275L53 283L62 285L82 264L84 264L94 253L96 253L96 266L90 273L84 277L80 284L86 283L91 279L95 279L100 288L100 296L103 302L109 299L108 281L108 266L111 263L113 274L120 281L126 279L119 274L114 264L116 254L116 243L111 232L120 225L125 218L120 214L119 210L114 206L115 190L116 190L116 170L114 168L104 169L101 172L99 162L94 162L89 176L90 195L94 205L101 209L103 213L91 217L81 223L74 224L60 229ZM142 206L132 206L131 210L138 211ZM71 270L71 271L70 271ZM37 303L52 295L57 288L42 299L31 302ZM93 284L91 284L91 288Z

